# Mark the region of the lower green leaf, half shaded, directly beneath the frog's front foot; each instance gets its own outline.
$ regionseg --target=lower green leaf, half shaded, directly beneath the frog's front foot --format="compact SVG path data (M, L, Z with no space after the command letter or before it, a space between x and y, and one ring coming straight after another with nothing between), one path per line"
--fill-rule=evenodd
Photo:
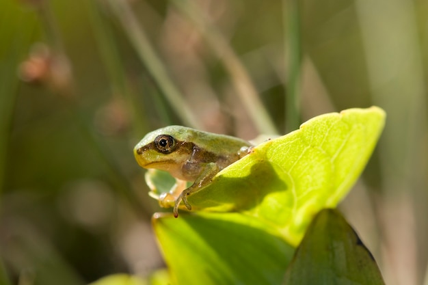
M239 213L156 214L153 226L172 284L280 284L294 249Z

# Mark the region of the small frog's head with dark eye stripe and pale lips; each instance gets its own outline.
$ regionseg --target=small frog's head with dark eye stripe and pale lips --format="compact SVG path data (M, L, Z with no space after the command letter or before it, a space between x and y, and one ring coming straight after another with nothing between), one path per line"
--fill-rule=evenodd
M167 126L148 133L134 148L137 163L144 168L170 172L179 178L181 166L189 159L193 144L183 126Z

